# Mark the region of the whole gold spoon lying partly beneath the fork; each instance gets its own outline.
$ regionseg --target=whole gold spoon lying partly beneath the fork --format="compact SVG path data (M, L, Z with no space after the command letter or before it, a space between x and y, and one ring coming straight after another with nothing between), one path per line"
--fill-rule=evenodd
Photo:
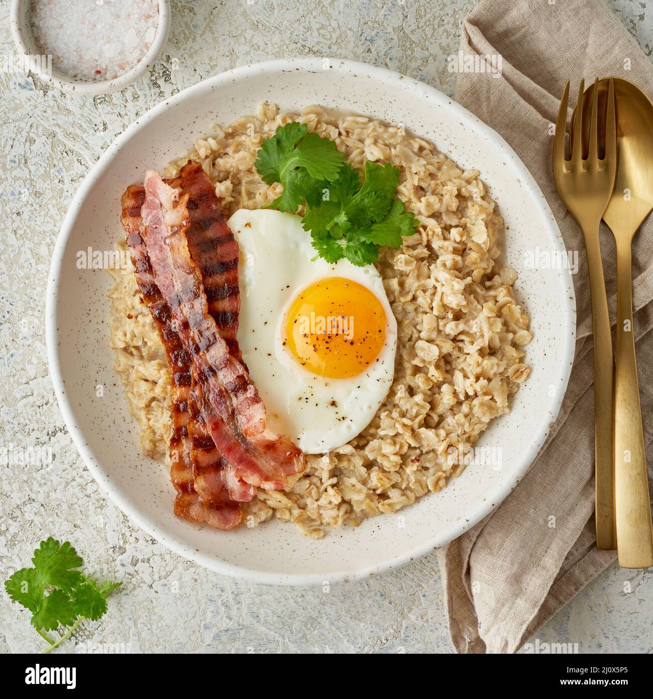
M605 101L608 80L600 80L598 84L599 100L602 97ZM617 246L614 400L617 550L622 568L648 568L653 565L653 527L633 337L631 245L653 209L653 103L629 80L614 78L614 85L617 179L603 220L614 233ZM591 93L585 92L584 104L591 98ZM589 134L583 135L587 142Z

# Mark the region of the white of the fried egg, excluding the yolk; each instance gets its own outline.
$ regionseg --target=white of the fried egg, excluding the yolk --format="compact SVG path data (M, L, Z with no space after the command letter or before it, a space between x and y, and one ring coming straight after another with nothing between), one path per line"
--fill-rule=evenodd
M397 322L379 272L346 259L318 258L300 217L274 210L237 210L228 220L240 247L240 320L237 340L249 375L267 408L270 428L290 437L307 454L340 447L372 421L395 370ZM316 376L284 347L285 317L300 291L328 277L367 287L386 312L386 340L362 373Z

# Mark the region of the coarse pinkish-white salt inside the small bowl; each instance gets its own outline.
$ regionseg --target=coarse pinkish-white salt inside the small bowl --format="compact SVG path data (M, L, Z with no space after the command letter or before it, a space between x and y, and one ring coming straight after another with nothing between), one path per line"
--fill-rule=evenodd
M34 42L60 71L107 80L131 71L159 27L157 0L31 0Z

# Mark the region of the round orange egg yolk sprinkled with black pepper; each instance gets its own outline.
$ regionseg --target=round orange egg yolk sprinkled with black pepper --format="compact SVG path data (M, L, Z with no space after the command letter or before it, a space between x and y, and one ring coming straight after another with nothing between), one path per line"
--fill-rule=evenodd
M379 298L367 287L342 277L321 279L288 310L285 345L312 373L344 379L379 356L386 322Z

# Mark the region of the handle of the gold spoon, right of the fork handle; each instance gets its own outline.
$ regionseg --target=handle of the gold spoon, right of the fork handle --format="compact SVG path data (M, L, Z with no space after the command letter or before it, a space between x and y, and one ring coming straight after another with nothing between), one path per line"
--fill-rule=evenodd
M615 506L622 568L653 565L653 527L633 334L631 240L617 243L617 358L615 361Z

